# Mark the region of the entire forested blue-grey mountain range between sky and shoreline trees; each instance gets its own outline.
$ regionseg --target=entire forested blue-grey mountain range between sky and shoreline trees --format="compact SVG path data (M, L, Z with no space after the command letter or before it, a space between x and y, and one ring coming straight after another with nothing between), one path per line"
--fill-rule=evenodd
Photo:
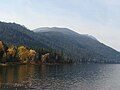
M75 62L119 62L120 53L91 35L78 34L67 28L29 30L16 23L0 22L0 39L6 44L32 48L50 48L63 52Z

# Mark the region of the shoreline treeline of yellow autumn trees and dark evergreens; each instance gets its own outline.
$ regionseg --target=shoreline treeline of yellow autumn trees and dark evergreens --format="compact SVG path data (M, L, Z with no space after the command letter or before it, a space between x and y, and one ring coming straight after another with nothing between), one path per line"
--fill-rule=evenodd
M24 45L7 46L0 41L0 63L18 64L48 64L48 63L72 63L72 60L62 52L55 52L49 49L31 49Z

